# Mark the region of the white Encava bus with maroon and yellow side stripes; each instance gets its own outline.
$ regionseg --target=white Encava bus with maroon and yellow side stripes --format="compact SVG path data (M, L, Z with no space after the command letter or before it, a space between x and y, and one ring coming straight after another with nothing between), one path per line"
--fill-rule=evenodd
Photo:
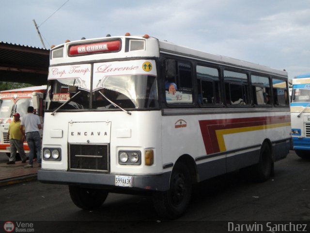
M193 183L240 168L264 181L288 153L286 71L148 35L67 42L50 58L38 179L68 184L82 209L149 193L177 218Z

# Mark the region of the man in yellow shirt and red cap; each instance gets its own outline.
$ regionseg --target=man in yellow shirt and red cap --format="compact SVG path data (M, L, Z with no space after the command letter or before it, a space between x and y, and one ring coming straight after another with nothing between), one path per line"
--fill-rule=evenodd
M24 150L24 137L20 132L20 116L19 113L13 115L14 119L9 125L8 139L10 139L11 156L6 164L15 164L16 151L18 151L22 163L26 163L26 154Z

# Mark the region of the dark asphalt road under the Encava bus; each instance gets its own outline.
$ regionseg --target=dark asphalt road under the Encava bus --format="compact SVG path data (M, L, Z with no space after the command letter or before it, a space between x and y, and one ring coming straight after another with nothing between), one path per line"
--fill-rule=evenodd
M70 200L67 186L16 184L0 189L0 221L64 221L57 223L59 232L113 233L200 232L205 224L227 232L227 222L204 221L309 221L309 167L310 161L291 151L265 183L251 183L239 172L200 183L186 215L173 222L155 214L151 197L109 194L101 209L83 211Z

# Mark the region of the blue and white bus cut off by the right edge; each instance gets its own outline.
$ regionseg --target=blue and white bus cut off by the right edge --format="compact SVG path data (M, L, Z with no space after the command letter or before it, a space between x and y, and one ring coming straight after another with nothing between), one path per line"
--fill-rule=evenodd
M293 80L291 123L293 149L304 159L310 159L310 74Z

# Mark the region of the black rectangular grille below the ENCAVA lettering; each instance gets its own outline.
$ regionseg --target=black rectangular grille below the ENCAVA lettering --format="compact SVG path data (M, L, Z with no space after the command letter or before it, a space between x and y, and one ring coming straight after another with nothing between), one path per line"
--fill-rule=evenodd
M109 145L69 144L69 169L109 171Z

